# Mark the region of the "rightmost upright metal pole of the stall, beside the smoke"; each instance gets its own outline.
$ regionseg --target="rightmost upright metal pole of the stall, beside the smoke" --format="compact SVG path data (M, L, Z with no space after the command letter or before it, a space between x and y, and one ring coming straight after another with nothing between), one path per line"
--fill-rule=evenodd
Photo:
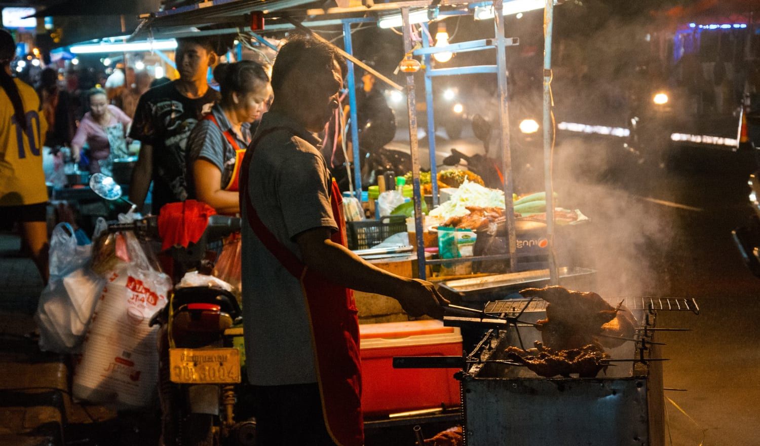
M543 9L543 182L546 188L546 239L549 240L549 281L559 280L554 249L554 194L552 181L552 31L554 0L546 0Z

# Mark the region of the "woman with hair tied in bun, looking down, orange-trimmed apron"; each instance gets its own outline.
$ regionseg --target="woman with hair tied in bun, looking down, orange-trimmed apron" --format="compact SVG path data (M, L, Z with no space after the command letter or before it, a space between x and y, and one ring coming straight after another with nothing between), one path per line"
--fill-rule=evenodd
M251 122L271 96L269 76L257 62L244 60L214 69L222 99L195 125L188 142L188 198L203 201L219 214L240 210L238 175L251 143Z

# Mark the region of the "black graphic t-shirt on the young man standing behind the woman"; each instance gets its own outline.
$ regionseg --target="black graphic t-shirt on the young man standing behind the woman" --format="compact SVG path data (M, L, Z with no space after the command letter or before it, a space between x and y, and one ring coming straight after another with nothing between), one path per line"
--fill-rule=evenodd
M186 145L195 124L220 99L208 88L198 99L179 93L176 81L147 90L138 102L129 138L153 146L153 210L166 203L184 201Z

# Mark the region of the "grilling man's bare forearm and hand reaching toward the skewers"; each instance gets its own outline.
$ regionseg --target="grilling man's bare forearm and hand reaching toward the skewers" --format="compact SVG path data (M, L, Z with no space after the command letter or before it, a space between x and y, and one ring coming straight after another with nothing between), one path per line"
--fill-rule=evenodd
M331 229L319 227L296 236L307 267L347 288L392 297L410 316L443 317L442 306L448 305L448 300L435 290L432 283L381 270L348 248L332 242L330 235Z

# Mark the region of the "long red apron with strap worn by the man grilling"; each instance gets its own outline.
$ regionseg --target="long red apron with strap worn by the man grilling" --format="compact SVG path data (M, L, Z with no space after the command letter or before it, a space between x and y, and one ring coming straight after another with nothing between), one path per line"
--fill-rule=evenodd
M241 203L240 207L245 206L248 223L258 239L277 261L301 282L303 296L309 308L322 413L331 438L340 446L361 446L364 443L364 424L361 409L359 318L356 315L353 291L309 270L290 249L280 243L261 222L246 191L249 167L256 144L265 135L278 130L287 128L277 127L263 131L251 144L251 150L245 154L240 194L240 200L244 203ZM343 204L335 180L332 181L331 187L330 203L338 226L331 240L346 246Z

